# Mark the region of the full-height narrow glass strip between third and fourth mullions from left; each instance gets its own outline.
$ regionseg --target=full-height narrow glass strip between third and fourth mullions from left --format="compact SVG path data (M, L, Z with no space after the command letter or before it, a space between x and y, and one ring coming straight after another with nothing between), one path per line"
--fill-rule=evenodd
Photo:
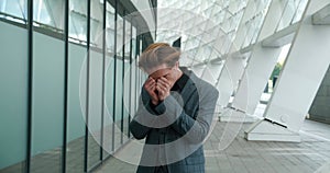
M90 79L88 114L88 170L100 162L101 119L102 119L102 11L100 0L91 0L90 13Z

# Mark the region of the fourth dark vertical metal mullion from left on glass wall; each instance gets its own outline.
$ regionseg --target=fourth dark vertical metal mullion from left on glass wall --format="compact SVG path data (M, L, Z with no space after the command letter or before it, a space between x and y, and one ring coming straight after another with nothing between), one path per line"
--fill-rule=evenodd
M105 85L106 85L106 55L107 55L107 1L103 0L103 66L102 66L102 101L101 101L101 146L100 146L100 160L103 160L103 128L105 128Z

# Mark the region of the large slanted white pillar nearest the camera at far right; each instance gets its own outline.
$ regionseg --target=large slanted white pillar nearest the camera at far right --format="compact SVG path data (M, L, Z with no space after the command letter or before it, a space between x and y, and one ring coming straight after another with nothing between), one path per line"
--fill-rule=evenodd
M266 107L265 119L245 131L248 140L300 141L298 131L330 62L330 25L311 23L311 15L329 1L309 3Z

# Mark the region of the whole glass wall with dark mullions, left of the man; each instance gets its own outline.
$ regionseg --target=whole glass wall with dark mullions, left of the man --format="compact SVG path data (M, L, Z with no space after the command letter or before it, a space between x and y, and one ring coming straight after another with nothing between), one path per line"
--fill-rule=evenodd
M90 172L129 141L145 77L125 13L106 0L0 1L1 173Z

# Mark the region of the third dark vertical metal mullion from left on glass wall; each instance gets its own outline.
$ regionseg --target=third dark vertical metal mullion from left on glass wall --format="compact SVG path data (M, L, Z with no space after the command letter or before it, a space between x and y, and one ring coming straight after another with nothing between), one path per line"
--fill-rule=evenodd
M87 0L87 79L86 79L86 107L85 107L85 162L84 171L88 171L88 117L89 117L89 61L90 61L90 0Z

